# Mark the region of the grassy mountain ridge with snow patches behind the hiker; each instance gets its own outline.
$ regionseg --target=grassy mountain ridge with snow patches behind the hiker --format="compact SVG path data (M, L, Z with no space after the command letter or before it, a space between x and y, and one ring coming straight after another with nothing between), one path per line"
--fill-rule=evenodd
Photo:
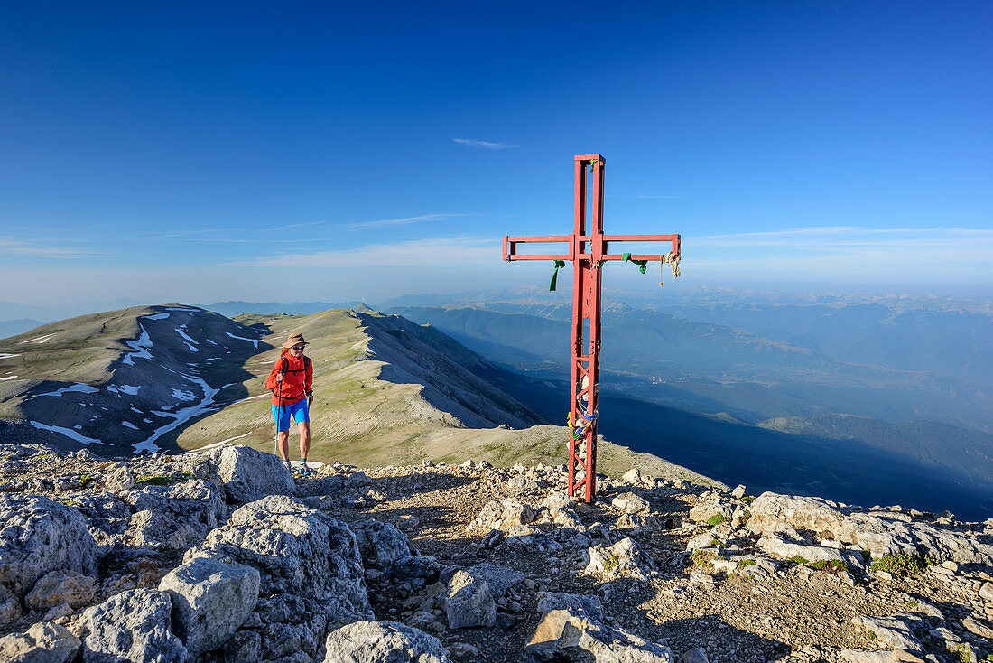
M0 340L0 433L104 456L237 441L273 450L265 377L290 331L311 342L315 460L561 462L568 431L508 396L513 374L431 327L366 309L231 320L132 307ZM296 451L294 451L296 454ZM720 485L601 441L601 465Z

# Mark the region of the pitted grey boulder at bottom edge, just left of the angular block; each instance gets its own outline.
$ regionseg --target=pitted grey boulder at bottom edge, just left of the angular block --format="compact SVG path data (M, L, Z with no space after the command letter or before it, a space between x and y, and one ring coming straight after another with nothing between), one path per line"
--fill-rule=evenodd
M156 589L129 589L86 608L85 663L183 663L187 650L170 631L172 601Z

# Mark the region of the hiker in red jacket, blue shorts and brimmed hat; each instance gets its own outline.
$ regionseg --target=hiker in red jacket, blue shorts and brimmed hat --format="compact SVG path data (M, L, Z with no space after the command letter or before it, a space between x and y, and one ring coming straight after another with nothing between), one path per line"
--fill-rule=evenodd
M265 388L272 392L272 416L276 419L279 455L290 464L290 416L300 427L300 475L308 476L307 452L310 450L310 404L314 401L314 367L304 348L309 345L300 333L290 334L283 344L276 365L272 367Z

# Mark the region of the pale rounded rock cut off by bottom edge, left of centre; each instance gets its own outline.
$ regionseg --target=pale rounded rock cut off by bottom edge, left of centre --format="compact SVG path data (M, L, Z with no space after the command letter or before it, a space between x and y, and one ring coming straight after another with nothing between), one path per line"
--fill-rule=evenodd
M441 641L396 621L356 621L328 635L325 663L450 663Z

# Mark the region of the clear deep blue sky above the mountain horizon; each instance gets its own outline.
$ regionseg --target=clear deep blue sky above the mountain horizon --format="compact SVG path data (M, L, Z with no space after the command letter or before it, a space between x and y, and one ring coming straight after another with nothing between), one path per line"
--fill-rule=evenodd
M539 283L591 152L673 287L990 293L990 3L477 5L0 4L0 299Z

